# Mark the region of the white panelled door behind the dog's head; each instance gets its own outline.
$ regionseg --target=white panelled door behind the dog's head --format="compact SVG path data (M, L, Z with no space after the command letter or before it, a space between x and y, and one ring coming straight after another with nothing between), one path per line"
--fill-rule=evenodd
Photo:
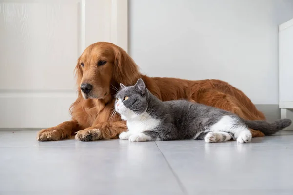
M0 128L69 120L86 46L127 51L127 0L0 0Z

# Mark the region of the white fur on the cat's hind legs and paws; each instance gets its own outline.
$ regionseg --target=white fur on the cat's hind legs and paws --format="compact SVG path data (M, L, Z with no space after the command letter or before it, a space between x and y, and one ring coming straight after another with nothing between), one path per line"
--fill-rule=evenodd
M235 138L237 139L237 142L239 142L239 143L250 142L251 138L252 138L250 130L246 126L237 126L235 128L234 127L235 123L238 123L236 120L237 119L232 118L230 116L223 116L221 118L221 120L219 120L216 124L212 125L209 128L209 130L214 131L214 132L229 131L234 134ZM213 135L215 135L215 134L213 134ZM219 135L217 135L217 136L219 136ZM210 134L210 133L208 133L205 137L205 141L208 143L217 142L215 140L217 140L216 137L212 136L212 134Z

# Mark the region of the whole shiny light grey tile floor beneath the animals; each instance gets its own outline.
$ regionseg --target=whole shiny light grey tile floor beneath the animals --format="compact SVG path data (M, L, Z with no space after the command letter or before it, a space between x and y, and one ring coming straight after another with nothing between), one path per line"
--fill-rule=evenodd
M293 131L250 144L36 141L0 130L0 195L293 195Z

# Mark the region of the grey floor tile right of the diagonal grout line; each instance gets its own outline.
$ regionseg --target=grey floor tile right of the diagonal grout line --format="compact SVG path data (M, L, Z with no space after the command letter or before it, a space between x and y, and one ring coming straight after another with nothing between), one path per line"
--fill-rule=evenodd
M188 194L287 195L293 194L290 134L257 138L256 144L190 140L157 145Z

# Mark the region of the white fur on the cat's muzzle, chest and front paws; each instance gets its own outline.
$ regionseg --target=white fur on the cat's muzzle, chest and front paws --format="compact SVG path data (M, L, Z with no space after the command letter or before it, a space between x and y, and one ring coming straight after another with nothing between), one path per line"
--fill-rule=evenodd
M160 124L159 120L153 119L146 111L140 115L135 114L124 106L121 99L117 101L115 110L127 121L128 131L121 133L120 139L129 139L131 142L151 141L151 138L142 132L156 128Z

